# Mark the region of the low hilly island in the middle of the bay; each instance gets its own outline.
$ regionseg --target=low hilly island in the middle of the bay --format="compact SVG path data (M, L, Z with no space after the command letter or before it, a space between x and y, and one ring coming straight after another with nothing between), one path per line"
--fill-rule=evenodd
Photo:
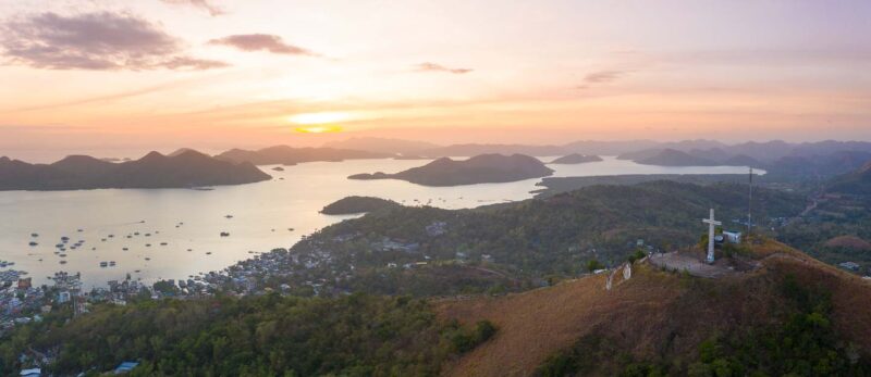
M348 179L401 179L421 186L443 187L508 183L541 178L552 174L553 169L528 155L481 154L462 161L441 158L424 166L400 173L355 174Z

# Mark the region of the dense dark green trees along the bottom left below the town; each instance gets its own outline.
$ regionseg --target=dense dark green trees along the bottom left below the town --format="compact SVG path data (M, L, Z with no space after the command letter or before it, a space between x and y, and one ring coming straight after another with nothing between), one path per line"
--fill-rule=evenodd
M440 321L406 297L144 301L101 305L64 324L56 315L0 343L0 374L49 350L48 372L99 374L139 361L133 376L434 376L496 332Z

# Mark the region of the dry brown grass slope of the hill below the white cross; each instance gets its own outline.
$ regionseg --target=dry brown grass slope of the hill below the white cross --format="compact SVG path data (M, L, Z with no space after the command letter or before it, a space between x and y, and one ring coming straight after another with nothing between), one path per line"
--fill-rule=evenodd
M871 354L871 285L810 256L768 241L753 249L761 267L721 279L682 277L650 266L611 291L605 276L502 298L442 301L444 317L464 323L490 319L498 335L444 369L450 376L529 376L548 356L586 335L614 341L639 360L657 356L690 362L697 347L720 331L776 324L786 274L833 292L835 326ZM601 369L608 374L608 367ZM613 370L612 370L613 372Z

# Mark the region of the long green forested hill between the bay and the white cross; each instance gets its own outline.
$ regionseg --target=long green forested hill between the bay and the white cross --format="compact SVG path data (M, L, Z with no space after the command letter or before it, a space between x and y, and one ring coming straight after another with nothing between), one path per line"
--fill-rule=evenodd
M755 201L755 214L764 227L777 224L778 217L797 215L806 205L801 197L765 189ZM698 242L706 231L700 219L711 208L725 228L743 229L733 219L746 218L746 187L657 181L587 187L473 210L400 206L329 226L294 246L291 254L300 260L330 255L326 265L299 268L296 277L321 278L327 288L444 294L455 291L432 284L396 286L383 279L398 274L391 265L427 263L429 267L419 271L430 273L434 265L455 261L482 263L515 279L576 276L593 260L605 265L625 261L636 252L639 239L645 251ZM335 282L339 276L349 278Z

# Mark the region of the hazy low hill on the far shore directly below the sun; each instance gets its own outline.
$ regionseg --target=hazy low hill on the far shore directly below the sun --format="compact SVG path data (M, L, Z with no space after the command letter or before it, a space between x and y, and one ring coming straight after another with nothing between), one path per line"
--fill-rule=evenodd
M218 160L234 163L249 162L255 165L295 165L303 162L315 161L343 161L359 159L387 159L392 153L368 152L335 148L293 148L290 146L275 146L256 151L231 149L216 155Z

